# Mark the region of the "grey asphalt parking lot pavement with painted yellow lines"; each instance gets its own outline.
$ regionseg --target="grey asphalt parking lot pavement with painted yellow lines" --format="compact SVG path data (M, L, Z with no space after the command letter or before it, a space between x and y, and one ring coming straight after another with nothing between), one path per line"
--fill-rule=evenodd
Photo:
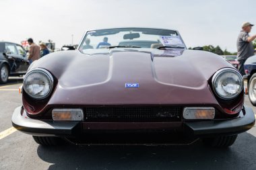
M0 85L0 169L256 169L256 128L238 135L226 149L201 141L172 146L62 146L44 148L32 136L11 128L22 105L22 78ZM245 105L251 105L248 96Z

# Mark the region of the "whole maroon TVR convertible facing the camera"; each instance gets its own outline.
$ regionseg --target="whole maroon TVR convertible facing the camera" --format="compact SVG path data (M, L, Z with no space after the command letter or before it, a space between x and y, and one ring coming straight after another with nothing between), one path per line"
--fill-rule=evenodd
M86 32L78 50L30 65L12 124L42 145L230 146L255 124L243 79L221 56L187 50L176 30Z

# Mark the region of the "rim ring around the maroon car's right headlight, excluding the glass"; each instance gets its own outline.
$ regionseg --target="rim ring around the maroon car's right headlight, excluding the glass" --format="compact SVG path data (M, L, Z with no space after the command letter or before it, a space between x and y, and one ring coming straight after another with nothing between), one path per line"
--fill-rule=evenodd
M217 78L222 75L224 72L232 72L232 73L235 73L241 80L241 88L240 88L240 91L238 93L236 93L236 95L232 96L232 97L223 97L222 95L220 95L217 91L216 91L216 88L215 88L215 83L216 83L216 80ZM214 76L212 77L212 87L214 89L214 93L220 97L220 99L225 99L225 100L230 100L230 99L234 99L236 98L240 93L241 91L243 91L243 77L242 75L236 70L236 69L232 69L232 68L224 68L224 69L220 69L218 70Z

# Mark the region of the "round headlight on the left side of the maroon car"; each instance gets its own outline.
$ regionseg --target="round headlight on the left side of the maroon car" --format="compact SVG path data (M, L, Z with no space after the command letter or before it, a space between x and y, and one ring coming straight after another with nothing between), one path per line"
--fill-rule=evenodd
M23 82L24 91L34 99L48 97L53 89L53 77L44 69L34 69L27 73Z

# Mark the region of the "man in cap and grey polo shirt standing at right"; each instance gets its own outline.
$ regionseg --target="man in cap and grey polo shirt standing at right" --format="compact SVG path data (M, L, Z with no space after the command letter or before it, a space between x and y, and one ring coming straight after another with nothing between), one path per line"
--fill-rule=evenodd
M238 35L236 47L237 47L237 59L239 62L238 71L241 75L245 75L244 64L245 60L249 58L249 56L254 55L254 48L253 48L253 40L255 40L256 35L249 36L249 32L251 32L251 28L254 25L245 22L242 24L242 31Z

